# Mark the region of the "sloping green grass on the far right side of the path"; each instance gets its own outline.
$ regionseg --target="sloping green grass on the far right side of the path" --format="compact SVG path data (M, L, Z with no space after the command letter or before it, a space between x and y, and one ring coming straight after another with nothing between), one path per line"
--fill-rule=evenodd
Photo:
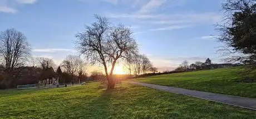
M238 82L238 80L244 79L241 74L242 70L242 67L234 67L192 71L151 76L135 81L256 98L256 82Z

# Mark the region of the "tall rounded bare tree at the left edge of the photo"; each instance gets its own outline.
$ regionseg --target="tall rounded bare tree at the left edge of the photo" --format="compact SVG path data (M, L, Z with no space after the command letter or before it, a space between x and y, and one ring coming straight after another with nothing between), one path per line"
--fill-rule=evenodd
M30 58L31 48L23 33L7 29L0 34L0 56L7 71L22 66Z

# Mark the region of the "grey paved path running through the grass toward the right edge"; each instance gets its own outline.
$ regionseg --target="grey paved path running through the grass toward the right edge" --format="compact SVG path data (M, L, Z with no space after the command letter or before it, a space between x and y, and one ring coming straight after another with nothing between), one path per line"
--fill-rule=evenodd
M142 82L130 82L130 83L150 87L152 89L159 89L159 90L164 90L168 92L173 92L175 94L183 94L191 97L196 97L199 99L221 102L223 104L248 108L250 110L256 110L256 99L251 99L247 97L215 94L211 92L195 91L195 90L181 89L178 87L161 86L161 85L155 85L155 84L146 84Z

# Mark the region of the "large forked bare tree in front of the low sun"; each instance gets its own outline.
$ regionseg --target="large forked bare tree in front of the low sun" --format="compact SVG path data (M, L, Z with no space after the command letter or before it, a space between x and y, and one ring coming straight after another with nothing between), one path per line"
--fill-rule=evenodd
M98 15L95 18L96 22L86 26L85 32L76 35L77 49L91 63L100 63L104 66L108 88L113 89L115 80L112 75L117 61L126 58L131 52L136 52L137 43L132 38L130 28L124 25L112 26L107 18ZM111 65L110 72L108 65Z

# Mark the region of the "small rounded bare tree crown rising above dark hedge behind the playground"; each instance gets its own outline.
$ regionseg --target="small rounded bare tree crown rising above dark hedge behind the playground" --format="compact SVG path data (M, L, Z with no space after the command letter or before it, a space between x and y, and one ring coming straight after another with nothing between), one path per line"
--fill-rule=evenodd
M39 58L35 58L35 59L36 59L38 67L42 68L43 70L46 70L49 68L52 68L52 69L56 68L56 64L50 58L39 57Z

